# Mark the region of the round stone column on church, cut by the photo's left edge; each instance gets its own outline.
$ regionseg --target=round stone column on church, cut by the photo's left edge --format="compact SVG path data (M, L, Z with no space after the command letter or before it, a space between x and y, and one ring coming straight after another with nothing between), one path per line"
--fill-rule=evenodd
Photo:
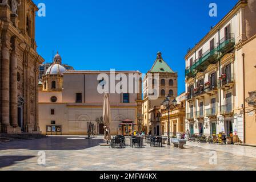
M10 60L9 48L2 46L2 65L1 65L1 118L2 131L7 133L10 126Z

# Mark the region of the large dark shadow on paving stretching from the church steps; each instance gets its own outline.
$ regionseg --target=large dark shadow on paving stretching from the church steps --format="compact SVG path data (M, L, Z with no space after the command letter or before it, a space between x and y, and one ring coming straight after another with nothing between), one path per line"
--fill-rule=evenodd
M47 137L35 140L14 141L0 144L1 150L84 150L105 143L103 139L86 139L86 137Z

